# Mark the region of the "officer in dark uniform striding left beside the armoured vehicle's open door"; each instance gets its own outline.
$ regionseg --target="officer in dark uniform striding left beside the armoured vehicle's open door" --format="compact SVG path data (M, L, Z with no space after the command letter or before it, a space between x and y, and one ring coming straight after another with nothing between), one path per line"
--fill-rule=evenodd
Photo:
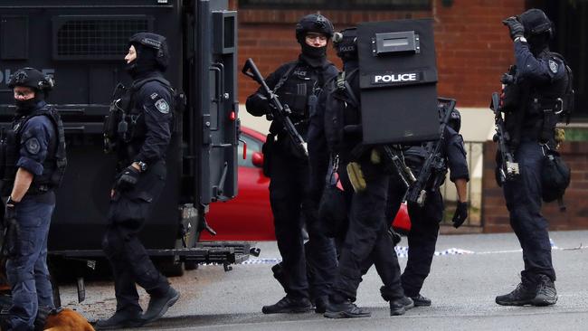
M173 90L163 78L168 62L166 38L137 33L129 40L127 71L134 80L118 102L124 110L117 152L117 175L102 248L114 274L117 311L97 324L100 329L141 326L162 317L180 294L149 260L138 239L152 204L166 184L166 149L171 139ZM125 125L119 125L125 127ZM122 131L122 132L120 132ZM135 283L150 296L141 316Z

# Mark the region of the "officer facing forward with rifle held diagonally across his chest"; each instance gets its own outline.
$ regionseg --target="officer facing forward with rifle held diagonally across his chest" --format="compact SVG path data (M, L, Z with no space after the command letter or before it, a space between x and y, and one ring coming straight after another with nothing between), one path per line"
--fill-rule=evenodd
M289 105L290 119L302 137L307 135L308 114L316 108L318 94L325 82L337 74L335 66L327 61L327 43L332 35L333 25L327 17L321 14L302 17L296 25L296 39L301 48L298 60L281 65L266 80L282 104ZM253 116L270 114L270 103L261 89L247 99L246 106ZM332 241L318 231L316 203L308 199L308 158L299 155L278 121L271 123L267 141L263 151L270 176L270 205L282 257L280 266L286 297L262 307L261 311L291 313L312 307L302 238L305 219L311 249L308 255L316 259L313 265L318 266L310 290L321 312L326 307L337 258Z

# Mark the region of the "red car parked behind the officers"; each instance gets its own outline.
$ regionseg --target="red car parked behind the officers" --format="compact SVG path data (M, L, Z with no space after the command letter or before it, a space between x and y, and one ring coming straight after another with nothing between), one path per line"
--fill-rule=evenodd
M273 216L270 207L270 178L263 175L261 146L265 135L251 128L241 128L241 138L247 147L239 146L239 192L228 202L211 203L206 216L208 225L217 233L203 232L202 241L275 241ZM408 232L411 228L406 204L394 218L394 228Z

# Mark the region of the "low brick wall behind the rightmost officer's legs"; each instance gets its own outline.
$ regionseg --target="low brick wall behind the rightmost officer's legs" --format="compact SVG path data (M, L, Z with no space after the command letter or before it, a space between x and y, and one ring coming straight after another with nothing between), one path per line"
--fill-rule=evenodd
M494 179L496 144L484 145L484 173L482 177L482 219L484 232L511 232L502 189ZM572 168L572 183L565 191L565 213L557 203L544 203L542 213L549 221L550 230L588 229L588 142L564 143L559 152Z

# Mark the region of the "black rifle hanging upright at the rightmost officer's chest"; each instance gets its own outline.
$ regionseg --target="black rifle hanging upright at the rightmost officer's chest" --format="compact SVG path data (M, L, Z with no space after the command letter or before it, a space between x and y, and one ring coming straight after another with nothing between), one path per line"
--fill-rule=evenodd
M500 167L498 171L498 181L502 185L507 181L514 180L519 175L518 163L515 162L515 157L510 152L508 142L510 136L505 130L504 119L502 119L500 109L500 99L498 93L492 93L492 103L490 109L494 111L494 124L496 127L496 134L492 137L494 142L498 142L498 150L500 151Z

